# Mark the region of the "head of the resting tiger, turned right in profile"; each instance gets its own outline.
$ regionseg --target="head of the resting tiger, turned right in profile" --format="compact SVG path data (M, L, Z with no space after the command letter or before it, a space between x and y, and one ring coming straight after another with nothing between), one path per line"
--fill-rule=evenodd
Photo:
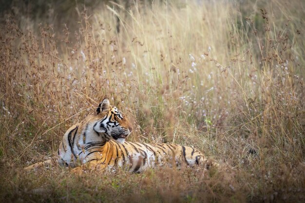
M93 130L97 134L103 133L106 140L114 139L118 143L124 143L133 130L127 117L116 107L112 107L107 98L98 105L94 117Z

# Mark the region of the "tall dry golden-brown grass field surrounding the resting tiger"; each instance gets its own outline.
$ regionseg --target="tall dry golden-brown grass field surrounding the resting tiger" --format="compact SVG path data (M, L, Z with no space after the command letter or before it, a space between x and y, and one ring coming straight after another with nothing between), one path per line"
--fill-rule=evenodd
M0 200L305 202L304 2L110 5L57 14L77 22L62 29L2 16ZM22 170L105 96L129 141L193 146L222 170Z

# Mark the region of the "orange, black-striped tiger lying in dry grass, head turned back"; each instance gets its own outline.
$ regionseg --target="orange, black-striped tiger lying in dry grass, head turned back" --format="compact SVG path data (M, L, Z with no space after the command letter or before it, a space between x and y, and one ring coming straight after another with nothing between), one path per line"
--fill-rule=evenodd
M57 150L58 164L72 167L74 173L106 168L115 170L116 167L141 172L155 166L185 164L206 169L218 166L195 148L175 144L125 142L132 130L127 117L112 107L105 98L95 112L66 131Z

